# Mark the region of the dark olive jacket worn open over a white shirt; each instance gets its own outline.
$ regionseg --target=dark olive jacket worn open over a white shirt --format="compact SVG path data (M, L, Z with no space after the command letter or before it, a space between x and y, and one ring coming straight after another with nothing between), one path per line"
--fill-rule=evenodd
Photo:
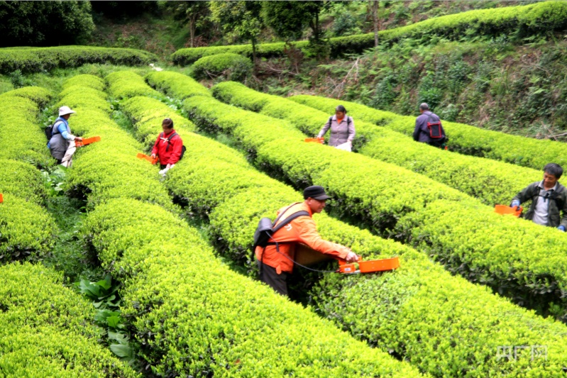
M537 185L541 181L534 182L530 184L527 188L520 191L514 199L517 199L520 204L532 199L532 205L529 206L527 213L525 213L524 218L532 221L534 218L534 212L536 209L537 201L539 201L539 189ZM563 211L563 217L561 217L560 212ZM563 185L557 183L557 190L550 197L549 209L547 213L547 226L558 227L564 226L567 228L567 190Z

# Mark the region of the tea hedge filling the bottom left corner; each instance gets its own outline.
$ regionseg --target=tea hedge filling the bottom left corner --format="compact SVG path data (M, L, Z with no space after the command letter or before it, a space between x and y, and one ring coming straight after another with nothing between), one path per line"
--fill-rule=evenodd
M98 344L94 307L43 265L0 267L2 377L138 377Z

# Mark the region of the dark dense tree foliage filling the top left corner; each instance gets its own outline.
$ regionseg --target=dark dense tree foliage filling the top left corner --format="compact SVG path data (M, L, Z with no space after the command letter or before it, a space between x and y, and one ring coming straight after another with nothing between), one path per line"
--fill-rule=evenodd
M92 22L89 1L0 1L0 45L82 43Z

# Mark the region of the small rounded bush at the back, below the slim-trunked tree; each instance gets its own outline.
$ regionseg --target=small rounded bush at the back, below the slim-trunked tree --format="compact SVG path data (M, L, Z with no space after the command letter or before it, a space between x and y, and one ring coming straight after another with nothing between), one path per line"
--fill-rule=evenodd
M193 72L197 79L223 76L241 82L252 74L252 62L242 55L226 52L200 58L194 62Z

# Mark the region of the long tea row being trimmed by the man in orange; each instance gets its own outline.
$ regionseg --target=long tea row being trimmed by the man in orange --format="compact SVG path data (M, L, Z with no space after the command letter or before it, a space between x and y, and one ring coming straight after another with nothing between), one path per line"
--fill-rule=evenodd
M143 97L121 105L135 129L143 130L141 137L152 126L158 133L158 121L169 111L160 101ZM148 118L149 112L152 118ZM184 143L187 154L168 173L165 184L187 201L187 211L208 216L211 238L222 240L224 255L246 265L258 218L273 217L276 209L300 201L300 196L257 172L225 145L191 133ZM392 240L324 214L317 215L316 222L324 238L351 245L366 259L401 256L402 267L396 272L356 277L326 274L312 291L316 310L353 335L394 350L434 376L517 376L527 369L534 376L563 374L561 367L567 359L561 338L563 325L544 321L484 287L454 277L423 254ZM498 345L534 343L548 345L548 352L554 349L561 356L544 364L528 359L515 363L497 360Z

